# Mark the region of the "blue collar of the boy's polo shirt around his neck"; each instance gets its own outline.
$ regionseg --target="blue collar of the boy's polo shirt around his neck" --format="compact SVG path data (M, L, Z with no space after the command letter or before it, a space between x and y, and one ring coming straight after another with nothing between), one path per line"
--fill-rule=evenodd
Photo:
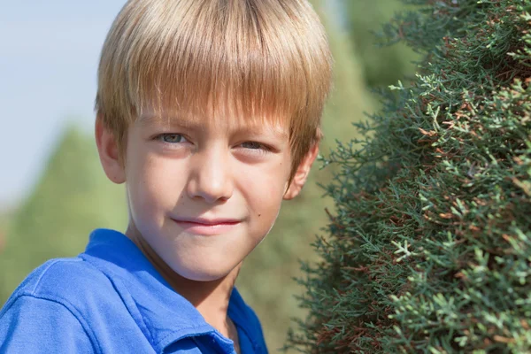
M230 352L233 342L206 323L194 305L170 287L126 235L96 229L90 234L89 244L80 257L105 273L120 296L130 296L141 317L135 320L143 322L140 325L151 336L158 351L185 337L210 335L224 352ZM120 286L125 289L118 289ZM242 314L240 303L243 304L242 297L234 289L228 304L230 315L234 313L239 317Z

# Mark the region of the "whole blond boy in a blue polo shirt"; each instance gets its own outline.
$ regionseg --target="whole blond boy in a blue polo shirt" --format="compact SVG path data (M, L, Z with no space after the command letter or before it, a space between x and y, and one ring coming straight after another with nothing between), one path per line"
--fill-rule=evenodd
M0 352L266 353L235 279L304 186L330 67L306 0L128 1L96 96L127 230L31 273L0 312Z

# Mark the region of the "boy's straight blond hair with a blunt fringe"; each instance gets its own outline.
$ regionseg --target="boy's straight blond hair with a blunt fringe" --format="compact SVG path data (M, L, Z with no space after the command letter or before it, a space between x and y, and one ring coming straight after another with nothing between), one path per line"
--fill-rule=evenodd
M127 127L148 107L289 119L293 176L319 139L331 61L306 0L129 0L104 42L96 112L121 156Z

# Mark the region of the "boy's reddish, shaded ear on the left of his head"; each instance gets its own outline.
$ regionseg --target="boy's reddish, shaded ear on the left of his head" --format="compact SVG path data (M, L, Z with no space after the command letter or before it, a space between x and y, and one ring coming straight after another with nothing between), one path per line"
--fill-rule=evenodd
M120 184L126 181L126 173L119 160L119 147L114 135L106 127L100 113L96 117L96 146L100 162L109 180Z

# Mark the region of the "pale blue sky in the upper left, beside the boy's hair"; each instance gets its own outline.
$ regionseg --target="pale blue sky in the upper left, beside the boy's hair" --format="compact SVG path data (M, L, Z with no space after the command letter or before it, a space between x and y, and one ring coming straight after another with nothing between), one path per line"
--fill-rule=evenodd
M27 195L67 121L92 129L99 51L125 0L0 0L0 208Z

